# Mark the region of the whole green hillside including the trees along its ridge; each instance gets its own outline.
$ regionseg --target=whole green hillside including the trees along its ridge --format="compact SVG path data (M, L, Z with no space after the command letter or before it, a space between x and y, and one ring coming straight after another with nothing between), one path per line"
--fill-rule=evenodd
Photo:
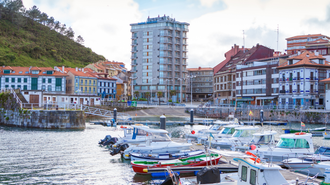
M9 5L2 8L0 66L82 67L98 60L105 60L104 56L74 41L71 27L65 28L65 24L61 25L52 17L48 19L47 14L45 21L42 19L43 14L35 18L32 14L33 9L29 12L23 7L12 13ZM53 25L57 23L57 27L53 27L49 21L52 21Z

